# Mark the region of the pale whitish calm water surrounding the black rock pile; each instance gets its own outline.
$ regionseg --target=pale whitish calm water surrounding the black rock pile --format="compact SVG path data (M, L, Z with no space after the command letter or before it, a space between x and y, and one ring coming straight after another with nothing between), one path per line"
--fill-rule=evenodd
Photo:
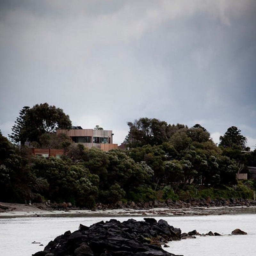
M145 217L145 216L143 216ZM14 218L0 219L0 255L27 256L44 249L50 240L65 231L75 231L82 223L90 226L101 220L130 218L143 220L143 217L86 217L86 218ZM196 229L199 233L218 232L223 236L197 237L169 242L166 251L184 256L255 256L256 255L256 214L208 215L208 216L155 216L170 225L181 228L182 232ZM231 231L240 228L248 233L244 236L231 236ZM32 244L33 241L40 242Z

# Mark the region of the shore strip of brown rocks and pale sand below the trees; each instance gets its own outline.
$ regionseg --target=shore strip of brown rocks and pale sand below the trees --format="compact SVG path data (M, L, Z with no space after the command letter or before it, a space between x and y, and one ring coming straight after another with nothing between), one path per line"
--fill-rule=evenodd
M17 217L85 217L85 216L137 216L137 215L222 215L256 213L255 201L245 199L229 199L219 201L190 200L103 205L93 209L81 209L70 203L61 204L10 204L0 203L0 218Z

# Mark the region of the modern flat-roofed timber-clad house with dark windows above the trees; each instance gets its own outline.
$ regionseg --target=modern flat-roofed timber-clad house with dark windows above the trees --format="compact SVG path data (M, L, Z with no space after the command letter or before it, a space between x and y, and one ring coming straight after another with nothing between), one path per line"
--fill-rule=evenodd
M75 126L70 130L57 130L57 135L64 133L68 135L75 143L83 144L87 148L100 148L104 151L118 148L113 144L114 133L110 130L82 129L81 126Z

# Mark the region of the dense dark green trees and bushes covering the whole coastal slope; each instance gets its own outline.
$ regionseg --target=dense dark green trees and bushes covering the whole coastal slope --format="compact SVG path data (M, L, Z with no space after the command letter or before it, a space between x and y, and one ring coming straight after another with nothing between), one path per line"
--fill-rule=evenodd
M43 107L46 111L47 106ZM58 122L47 123L44 118L44 124L58 128ZM22 124L21 118L21 125L17 127L16 123L14 127L18 131L12 133L15 142L22 137L19 131L31 136L24 125L33 119L26 114L23 119L26 122ZM67 116L65 120L70 126ZM29 148L15 146L0 133L0 201L51 200L93 207L120 200L187 200L207 195L217 199L252 198L256 188L255 180L237 182L238 173L248 172L247 166L256 166L256 150L248 151L246 138L235 126L228 128L217 146L200 124L188 128L140 118L128 123L125 150L104 152L84 148L65 135L46 132L39 124L39 132L32 132L36 134L34 143L43 148L63 148L64 156L34 157Z

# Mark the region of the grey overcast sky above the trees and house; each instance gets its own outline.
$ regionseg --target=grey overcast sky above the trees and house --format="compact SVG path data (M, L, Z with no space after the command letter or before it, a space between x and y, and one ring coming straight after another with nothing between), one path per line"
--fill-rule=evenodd
M73 125L237 126L256 144L256 1L0 0L0 129L48 102Z

